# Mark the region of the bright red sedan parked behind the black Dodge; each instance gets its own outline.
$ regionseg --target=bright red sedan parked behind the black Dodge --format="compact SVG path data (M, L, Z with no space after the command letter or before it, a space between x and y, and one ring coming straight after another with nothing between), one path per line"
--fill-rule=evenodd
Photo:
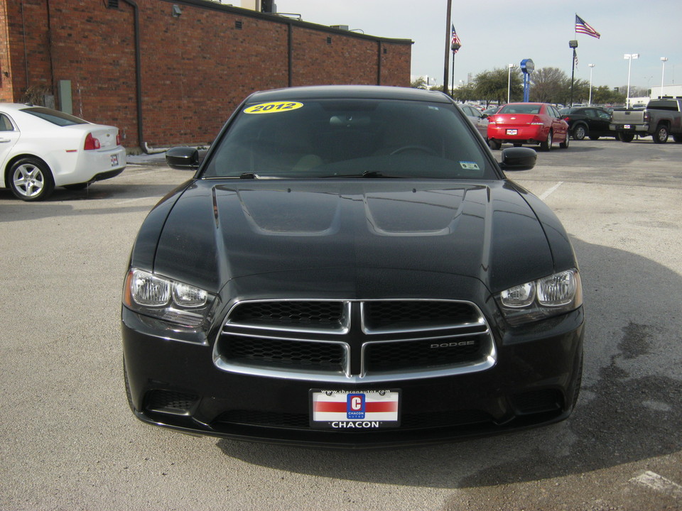
M508 103L489 117L488 140L492 149L503 143L540 144L550 150L558 142L568 148L568 123L559 119L559 112L547 103Z

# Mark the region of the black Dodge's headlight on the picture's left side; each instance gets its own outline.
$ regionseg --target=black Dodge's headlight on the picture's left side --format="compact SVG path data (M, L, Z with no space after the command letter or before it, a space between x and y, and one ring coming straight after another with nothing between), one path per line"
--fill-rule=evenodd
M199 287L133 268L126 277L123 302L140 314L195 328L210 318L215 297Z

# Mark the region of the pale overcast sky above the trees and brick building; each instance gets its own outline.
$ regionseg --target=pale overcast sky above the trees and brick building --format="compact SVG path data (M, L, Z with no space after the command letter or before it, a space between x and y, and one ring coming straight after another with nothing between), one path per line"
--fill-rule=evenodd
M235 5L239 5L237 1ZM300 13L303 21L348 25L369 35L411 39L412 75L443 82L446 0L275 0L279 13ZM600 39L575 34L575 14L601 34ZM531 58L536 69L558 67L569 77L572 52L568 41L578 40L575 77L595 87L627 84L682 84L682 0L453 0L452 21L462 48L455 57L455 84L467 75L494 68L507 69ZM452 72L450 53L450 72ZM452 75L450 75L452 76Z

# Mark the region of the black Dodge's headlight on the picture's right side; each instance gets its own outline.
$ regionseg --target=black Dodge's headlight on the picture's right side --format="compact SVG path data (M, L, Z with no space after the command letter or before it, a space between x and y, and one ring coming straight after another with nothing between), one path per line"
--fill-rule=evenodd
M546 278L510 287L497 296L502 314L512 325L564 314L583 304L578 270L566 270Z

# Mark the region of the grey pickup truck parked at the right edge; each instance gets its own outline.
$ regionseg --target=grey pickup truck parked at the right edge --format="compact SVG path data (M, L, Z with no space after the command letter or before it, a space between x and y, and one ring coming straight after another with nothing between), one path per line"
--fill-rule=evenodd
M651 99L644 110L614 110L609 129L623 142L635 135L651 135L655 143L666 143L671 135L682 142L682 99Z

